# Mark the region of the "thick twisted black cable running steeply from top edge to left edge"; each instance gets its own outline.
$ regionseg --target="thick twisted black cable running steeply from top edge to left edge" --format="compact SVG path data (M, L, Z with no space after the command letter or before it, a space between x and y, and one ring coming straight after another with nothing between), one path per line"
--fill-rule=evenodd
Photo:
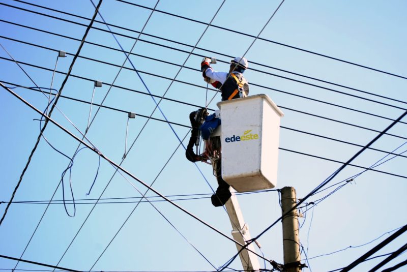
M56 103L58 102L58 100L59 100L59 98L60 98L60 96L61 96L61 93L62 93L62 90L63 90L63 88L64 88L64 86L65 86L65 83L67 82L68 77L69 77L69 75L71 74L73 65L75 64L76 58L78 57L78 55L79 55L79 53L80 53L80 50L82 49L84 40L86 39L86 36L88 36L89 30L91 29L91 26L92 26L92 24L93 24L93 20L95 20L95 17L96 17L96 15L98 14L98 10L99 10L100 5L102 4L102 1L103 1L103 0L99 0L99 4L98 4L98 6L97 6L97 8L96 8L96 10L95 10L95 13L94 13L93 17L92 17L92 21L91 21L91 23L88 25L88 27L86 27L86 31L85 31L85 33L84 33L84 35L83 35L82 41L81 41L81 43L80 43L80 45L79 45L79 47L78 47L78 50L77 50L77 52L76 52L76 54L75 54L75 56L74 56L74 58L73 58L73 60L72 60L71 65L70 65L70 67L69 67L69 69L68 69L68 73L67 73L67 75L66 75L64 81L63 81L62 84L61 84L61 88L60 88L59 92L57 93L57 95L55 96L55 101L53 102L53 104L52 104L52 106L51 106L51 108L50 108L50 110L49 110L49 112L48 112L48 116L51 116L51 113L52 113L53 109L55 108L55 105L56 105ZM11 199L10 199L10 203L7 204L6 209L5 209L5 211L4 211L4 214L3 214L3 217L2 217L2 219L0 219L0 226L2 225L3 220L4 220L4 218L6 217L6 214L7 214L7 211L8 211L8 209L9 209L10 205L11 205L11 202L13 201L14 196L15 196L15 194L16 194L16 192L17 192L17 189L18 189L18 187L19 187L20 184L21 184L21 180L22 180L22 178L23 178L23 176L24 176L24 174L25 174L25 171L27 170L28 165L30 165L31 159L33 158L34 152L35 152L35 150L37 149L37 146L38 146L38 144L39 144L39 142L40 142L40 140L41 140L41 136L42 136L42 134L44 133L44 130L45 130L47 124L48 124L48 119L45 120L44 126L43 126L42 129L41 129L40 135L39 135L38 138L37 138L37 142L35 143L34 148L33 148L33 150L31 151L30 156L28 157L28 161L27 161L27 163L26 163L26 165L25 165L25 167L24 167L24 169L23 169L23 171L22 171L22 173L21 173L21 175L20 175L20 179L18 180L18 183L17 183L17 185L16 185L16 187L15 187L15 189L14 189L14 191L13 191L13 194L12 194Z

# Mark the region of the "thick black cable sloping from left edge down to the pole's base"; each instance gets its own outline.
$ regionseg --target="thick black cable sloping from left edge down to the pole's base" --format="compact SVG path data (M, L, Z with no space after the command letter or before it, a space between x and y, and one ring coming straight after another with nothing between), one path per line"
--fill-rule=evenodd
M12 94L14 97L16 97L17 99L19 99L21 102L23 102L25 105L27 105L28 107L32 108L33 110L35 110L37 113L42 114L42 112L40 110L38 110L36 107L34 107L33 105L31 105L29 102L27 102L26 100L24 100L22 97L20 97L19 95L17 95L15 92L13 92L13 90L7 88L2 82L0 82L0 86L5 88L10 94ZM234 239L230 238L228 235L222 233L221 231L219 231L218 229L216 229L215 227L211 226L210 224L206 223L205 221L203 221L202 219L198 218L197 216L193 215L192 213L190 213L188 210L186 210L185 208L181 207L180 205L178 205L175 202L172 202L170 199L168 199L167 197L165 197L163 194L161 194L160 192L158 192L157 190L155 190L154 188L150 187L149 185L147 185L145 182L143 182L143 180L137 178L134 174L132 174L131 172L129 172L128 170L124 169L123 167L121 167L120 165L118 165L117 163L113 162L112 160L110 160L108 157L106 157L103 153L101 153L99 150L97 150L95 147L91 146L90 144L80 140L78 137L76 137L74 134L72 134L69 130L67 130L66 128L64 128L63 126L61 126L59 123L55 122L55 120L53 120L52 118L50 118L49 116L43 115L45 118L49 119L51 123L53 123L56 127L60 128L61 130L63 130L64 132L66 132L68 135L70 135L72 138L74 138L75 140L77 140L78 142L81 142L84 146L88 147L90 150L92 150L93 152L97 153L99 156L101 156L104 160L106 160L108 163L110 163L113 167L115 167L115 169L117 170L121 170L123 173L126 173L127 175L129 175L130 177L132 177L134 180L136 180L138 183L140 183L141 185L143 185L146 188L149 188L151 191L153 191L155 194L157 194L158 196L162 197L163 199L165 199L168 203L170 203L171 205L175 206L176 208L180 209L181 211L183 211L183 213L189 215L190 217L194 218L195 220L199 221L200 223L202 223L203 225L209 227L210 229L212 229L213 231L217 232L218 234L222 235L223 237L225 237L226 239L232 241L233 243L238 244L241 247L244 247L244 245L238 243L237 241L235 241ZM250 250L249 250L250 251ZM260 258L262 256L260 256L259 254L257 254L256 252L253 252L253 254L259 256Z

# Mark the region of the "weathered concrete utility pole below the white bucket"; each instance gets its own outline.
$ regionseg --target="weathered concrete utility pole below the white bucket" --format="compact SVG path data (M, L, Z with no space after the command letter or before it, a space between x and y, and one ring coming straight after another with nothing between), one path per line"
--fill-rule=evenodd
M284 215L297 203L296 190L293 187L281 189L281 213ZM300 238L297 209L293 209L283 219L284 267L287 272L301 272Z

